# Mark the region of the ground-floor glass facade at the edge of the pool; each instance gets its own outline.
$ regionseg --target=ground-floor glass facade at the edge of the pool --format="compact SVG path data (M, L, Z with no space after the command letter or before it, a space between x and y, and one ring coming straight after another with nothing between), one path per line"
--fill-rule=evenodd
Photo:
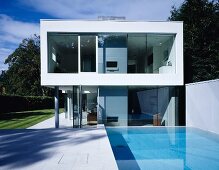
M178 126L177 87L100 87L98 122L106 126Z

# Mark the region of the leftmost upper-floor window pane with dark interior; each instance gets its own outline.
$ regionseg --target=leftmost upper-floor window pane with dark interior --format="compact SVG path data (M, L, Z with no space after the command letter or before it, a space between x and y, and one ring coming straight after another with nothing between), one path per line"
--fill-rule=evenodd
M48 33L48 72L78 73L78 35Z

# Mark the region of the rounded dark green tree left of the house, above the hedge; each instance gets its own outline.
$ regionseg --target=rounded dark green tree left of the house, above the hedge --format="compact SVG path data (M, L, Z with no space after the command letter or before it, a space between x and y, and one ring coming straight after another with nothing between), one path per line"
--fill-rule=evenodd
M24 39L8 56L8 70L1 75L6 94L23 96L48 95L50 90L40 85L40 37Z

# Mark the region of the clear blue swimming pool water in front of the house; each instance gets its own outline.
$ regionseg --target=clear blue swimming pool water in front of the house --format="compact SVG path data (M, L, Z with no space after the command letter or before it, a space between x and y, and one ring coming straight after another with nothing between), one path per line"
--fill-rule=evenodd
M219 135L185 127L106 130L121 170L219 170Z

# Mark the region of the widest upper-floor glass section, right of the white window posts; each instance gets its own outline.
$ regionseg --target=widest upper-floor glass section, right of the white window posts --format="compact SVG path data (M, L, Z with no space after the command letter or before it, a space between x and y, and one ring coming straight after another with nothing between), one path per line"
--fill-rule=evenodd
M174 34L99 34L99 73L175 73L174 39Z

